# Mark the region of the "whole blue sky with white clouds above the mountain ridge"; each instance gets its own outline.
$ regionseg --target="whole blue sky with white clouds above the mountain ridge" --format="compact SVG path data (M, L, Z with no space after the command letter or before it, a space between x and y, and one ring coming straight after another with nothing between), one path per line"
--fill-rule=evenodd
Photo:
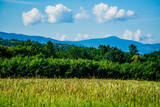
M79 41L160 43L160 0L0 0L0 31Z

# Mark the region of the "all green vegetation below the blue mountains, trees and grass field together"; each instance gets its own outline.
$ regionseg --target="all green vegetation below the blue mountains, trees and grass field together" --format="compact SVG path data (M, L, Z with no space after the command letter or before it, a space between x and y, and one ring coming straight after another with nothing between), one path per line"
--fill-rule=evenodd
M51 41L0 44L0 107L160 105L160 50L140 55L133 44L129 52Z

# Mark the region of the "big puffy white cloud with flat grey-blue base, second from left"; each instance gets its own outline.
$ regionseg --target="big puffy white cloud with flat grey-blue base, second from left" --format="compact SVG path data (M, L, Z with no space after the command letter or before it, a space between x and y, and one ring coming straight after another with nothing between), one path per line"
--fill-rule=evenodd
M49 15L49 23L73 22L72 10L65 7L63 4L57 4L56 6L47 6L45 12Z

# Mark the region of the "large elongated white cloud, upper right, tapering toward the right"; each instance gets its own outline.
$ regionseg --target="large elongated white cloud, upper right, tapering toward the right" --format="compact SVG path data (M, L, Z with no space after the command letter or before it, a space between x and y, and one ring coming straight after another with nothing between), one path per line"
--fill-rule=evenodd
M100 3L93 7L93 14L97 17L98 23L110 22L115 20L125 20L134 15L134 11L118 9L117 6L108 6Z

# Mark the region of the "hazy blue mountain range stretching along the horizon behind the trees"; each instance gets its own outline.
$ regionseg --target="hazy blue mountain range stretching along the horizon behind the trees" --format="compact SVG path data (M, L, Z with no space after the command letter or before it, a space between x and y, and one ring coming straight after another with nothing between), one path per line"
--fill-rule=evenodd
M9 39L9 40L10 39L18 39L18 40L30 39L32 41L38 41L40 43L46 43L50 40L53 43L63 43L63 44L69 44L69 45L95 47L95 48L98 48L98 46L101 44L101 45L114 46L123 51L129 51L128 46L130 44L134 44L137 46L137 49L139 50L140 54L150 53L150 52L160 49L160 43L143 44L143 43L132 41L132 40L120 39L116 36L110 36L106 38L88 39L88 40L81 40L81 41L59 41L59 40L46 38L42 36L28 36L28 35L23 35L23 34L0 32L0 38Z

